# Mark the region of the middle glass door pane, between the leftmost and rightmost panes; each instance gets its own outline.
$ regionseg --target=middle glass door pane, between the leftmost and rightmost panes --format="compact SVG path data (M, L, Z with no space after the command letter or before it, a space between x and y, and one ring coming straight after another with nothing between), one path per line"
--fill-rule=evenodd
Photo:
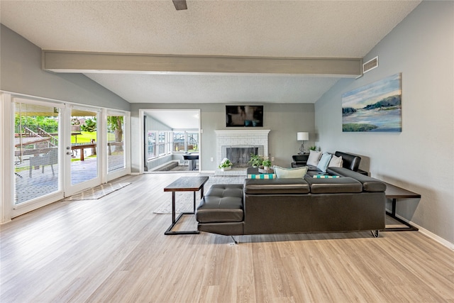
M76 106L70 109L65 160L69 173L65 178L65 196L101 184L98 158L99 112Z

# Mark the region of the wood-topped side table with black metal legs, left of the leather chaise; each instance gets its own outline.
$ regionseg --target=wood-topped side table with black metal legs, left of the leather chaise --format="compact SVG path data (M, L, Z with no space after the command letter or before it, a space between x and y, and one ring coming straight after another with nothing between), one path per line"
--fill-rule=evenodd
M179 219L182 219L182 216L185 214L195 214L196 213L196 192L200 190L200 199L204 197L204 184L208 181L209 177L180 177L175 182L167 185L164 188L165 192L172 192L172 224L165 231L165 235L187 235L187 234L197 234L200 231L172 231L172 228L177 224ZM192 212L182 212L179 214L178 218L175 219L175 192L194 192L194 211Z

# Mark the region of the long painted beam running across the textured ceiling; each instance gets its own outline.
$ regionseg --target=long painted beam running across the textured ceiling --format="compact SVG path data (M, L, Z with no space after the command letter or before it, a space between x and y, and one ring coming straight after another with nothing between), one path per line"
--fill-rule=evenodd
M362 75L362 58L148 55L43 50L42 65L43 70L78 73Z

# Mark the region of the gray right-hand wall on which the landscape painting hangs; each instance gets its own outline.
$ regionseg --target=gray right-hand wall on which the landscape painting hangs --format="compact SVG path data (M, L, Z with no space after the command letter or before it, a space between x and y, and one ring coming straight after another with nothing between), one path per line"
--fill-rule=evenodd
M343 79L315 104L322 150L362 155L372 177L421 194L397 214L454 243L454 2L423 1L365 57L380 66ZM343 133L341 95L402 72L402 133Z

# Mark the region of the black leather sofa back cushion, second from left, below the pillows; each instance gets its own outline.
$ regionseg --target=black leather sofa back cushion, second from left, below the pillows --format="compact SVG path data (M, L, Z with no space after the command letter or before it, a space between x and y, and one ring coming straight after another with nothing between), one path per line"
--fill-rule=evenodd
M362 192L362 184L350 177L318 179L306 177L312 194L341 194Z

